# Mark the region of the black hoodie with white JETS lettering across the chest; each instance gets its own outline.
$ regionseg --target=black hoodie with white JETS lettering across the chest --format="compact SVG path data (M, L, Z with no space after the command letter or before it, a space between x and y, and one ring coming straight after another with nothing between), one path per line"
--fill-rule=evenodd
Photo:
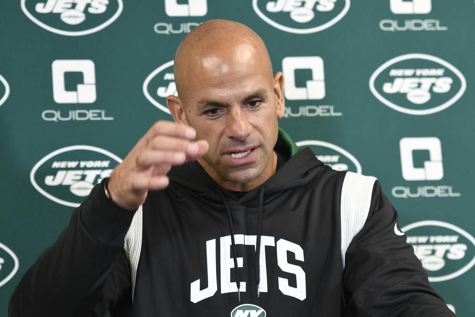
M283 131L275 150L290 159L241 197L196 161L135 213L98 184L9 316L454 316L373 177L332 170Z

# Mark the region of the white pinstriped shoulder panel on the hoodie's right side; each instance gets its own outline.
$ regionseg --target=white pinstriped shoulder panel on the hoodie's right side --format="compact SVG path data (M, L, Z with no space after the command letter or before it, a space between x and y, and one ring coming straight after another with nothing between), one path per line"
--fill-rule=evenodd
M347 172L341 188L340 226L341 259L345 268L345 254L353 238L368 218L375 177Z

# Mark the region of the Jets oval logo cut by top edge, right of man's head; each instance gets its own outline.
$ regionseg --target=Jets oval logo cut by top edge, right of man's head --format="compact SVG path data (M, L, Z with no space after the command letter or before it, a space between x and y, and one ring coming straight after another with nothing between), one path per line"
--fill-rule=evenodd
M340 21L350 0L253 0L254 11L273 27L297 34L322 31Z

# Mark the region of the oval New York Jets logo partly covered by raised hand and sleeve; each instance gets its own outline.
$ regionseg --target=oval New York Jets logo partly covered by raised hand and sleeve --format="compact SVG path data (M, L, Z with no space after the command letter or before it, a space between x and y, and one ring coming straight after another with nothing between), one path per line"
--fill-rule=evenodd
M42 195L58 204L78 207L91 189L122 159L97 147L75 145L56 150L40 159L30 181Z

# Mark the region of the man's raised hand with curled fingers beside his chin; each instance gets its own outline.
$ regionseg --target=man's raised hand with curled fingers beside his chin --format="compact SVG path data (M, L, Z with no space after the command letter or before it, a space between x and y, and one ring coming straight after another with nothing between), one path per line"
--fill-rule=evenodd
M195 136L190 126L156 122L112 171L107 183L111 199L123 208L136 210L149 190L166 188L166 173L172 165L199 159L208 151L208 142L194 142Z

